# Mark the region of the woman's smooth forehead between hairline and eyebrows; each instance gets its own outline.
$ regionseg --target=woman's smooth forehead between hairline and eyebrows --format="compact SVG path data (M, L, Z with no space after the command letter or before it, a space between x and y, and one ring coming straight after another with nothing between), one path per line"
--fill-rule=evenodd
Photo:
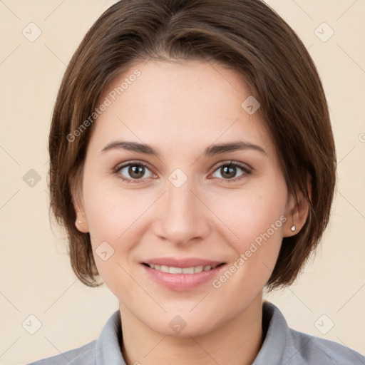
M138 75L138 76L136 76ZM144 61L120 73L101 103L91 142L128 138L166 148L249 140L271 149L259 109L247 113L252 98L240 74L205 61ZM249 99L250 100L250 99Z

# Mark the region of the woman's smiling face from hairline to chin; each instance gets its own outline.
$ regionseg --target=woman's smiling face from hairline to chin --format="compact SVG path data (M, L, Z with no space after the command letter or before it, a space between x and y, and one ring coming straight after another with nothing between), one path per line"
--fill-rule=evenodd
M179 336L237 319L292 225L259 104L235 71L203 61L139 63L101 103L77 226L121 312Z

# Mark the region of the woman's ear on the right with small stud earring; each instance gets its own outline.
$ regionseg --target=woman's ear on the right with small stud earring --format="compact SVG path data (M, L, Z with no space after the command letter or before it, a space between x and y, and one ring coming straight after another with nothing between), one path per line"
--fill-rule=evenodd
M312 183L311 176L309 174L307 174L307 191L309 199L312 200ZM297 199L294 194L290 195L286 212L287 221L283 226L284 237L297 235L297 233L302 230L302 227L307 221L309 207L310 205L307 196L305 196L302 192L297 192ZM293 226L295 227L294 230L292 230Z

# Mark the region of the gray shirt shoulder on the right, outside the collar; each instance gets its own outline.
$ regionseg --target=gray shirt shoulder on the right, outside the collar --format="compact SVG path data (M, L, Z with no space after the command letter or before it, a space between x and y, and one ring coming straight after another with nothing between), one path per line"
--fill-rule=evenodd
M289 329L294 358L303 364L365 365L365 356L335 341Z

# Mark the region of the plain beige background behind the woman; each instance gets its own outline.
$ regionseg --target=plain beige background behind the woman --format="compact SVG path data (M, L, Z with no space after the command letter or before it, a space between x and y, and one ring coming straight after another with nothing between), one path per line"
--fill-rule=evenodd
M71 271L65 243L48 222L46 192L48 128L61 76L83 35L113 2L0 1L0 364L25 364L86 344L118 309L105 285L85 287ZM316 259L290 289L267 299L290 327L364 354L365 1L268 2L297 31L319 69L339 185ZM31 36L31 22L41 30L33 42L22 34L25 29ZM331 29L323 22L334 31L328 40ZM41 178L33 187L23 180L31 169ZM22 327L31 314L41 322L35 334Z

